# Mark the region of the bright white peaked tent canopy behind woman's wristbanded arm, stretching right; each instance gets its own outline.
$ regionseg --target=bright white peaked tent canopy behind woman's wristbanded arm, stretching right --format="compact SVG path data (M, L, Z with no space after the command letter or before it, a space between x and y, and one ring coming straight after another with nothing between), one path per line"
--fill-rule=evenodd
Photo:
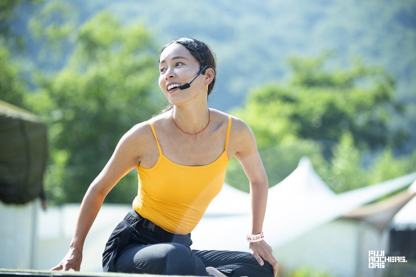
M279 247L415 179L416 173L412 173L336 195L314 172L310 160L302 158L295 171L269 189L263 223L265 241ZM231 193L232 189L224 184L192 232L193 249L248 251L245 235L251 232L249 195ZM228 207L230 210L225 210ZM229 211L232 212L228 214Z

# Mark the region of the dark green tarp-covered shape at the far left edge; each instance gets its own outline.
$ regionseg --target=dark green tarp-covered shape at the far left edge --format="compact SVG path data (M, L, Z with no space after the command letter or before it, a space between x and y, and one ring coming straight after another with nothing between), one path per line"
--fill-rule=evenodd
M45 199L47 126L36 115L0 100L0 200Z

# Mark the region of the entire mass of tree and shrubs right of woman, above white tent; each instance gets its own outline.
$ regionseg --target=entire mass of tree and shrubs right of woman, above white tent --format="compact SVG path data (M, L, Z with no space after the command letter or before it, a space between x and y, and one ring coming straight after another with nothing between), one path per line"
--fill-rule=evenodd
M391 111L403 111L394 100L394 79L382 68L365 67L358 59L350 69L325 69L331 54L291 57L287 84L254 88L244 107L230 111L251 126L269 187L288 176L302 156L311 158L315 171L335 193L415 170L416 151L394 158L391 150L408 135L389 126ZM364 167L364 151L386 146ZM248 179L235 160L230 161L225 181L249 191Z

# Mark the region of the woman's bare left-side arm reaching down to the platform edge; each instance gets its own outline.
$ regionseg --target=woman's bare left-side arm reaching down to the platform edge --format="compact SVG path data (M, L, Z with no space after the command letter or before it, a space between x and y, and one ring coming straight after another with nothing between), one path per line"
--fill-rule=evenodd
M79 209L74 235L69 245L69 252L51 270L64 271L72 268L75 271L79 271L85 238L97 217L106 195L121 178L139 164L141 153L139 142L141 141L145 124L146 122L137 124L121 137L108 163L89 185Z

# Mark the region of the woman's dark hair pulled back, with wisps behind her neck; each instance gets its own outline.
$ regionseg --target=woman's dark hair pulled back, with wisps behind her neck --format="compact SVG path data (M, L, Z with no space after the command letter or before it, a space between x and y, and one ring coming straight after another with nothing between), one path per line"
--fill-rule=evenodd
M193 57L195 57L196 60L201 65L210 65L211 67L216 69L217 58L215 57L214 51L205 42L202 42L200 40L196 40L192 37L181 37L178 40L172 40L171 42L167 43L166 45L163 45L162 50L159 54L159 63L160 63L160 55L162 54L163 50L166 47L168 47L169 45L171 45L172 43L175 43L175 42L180 43L181 45L185 46L186 49L188 49L189 52L191 52ZM210 84L208 85L208 95L210 95L210 93L213 90L213 87L214 87L214 84L215 84L215 77L216 77L216 74L214 75L214 79L212 80L212 82L210 82ZM208 95L207 95L207 100L208 100ZM170 109L173 109L172 104L169 104L168 106L165 106L159 114L163 114L164 112L166 112Z

